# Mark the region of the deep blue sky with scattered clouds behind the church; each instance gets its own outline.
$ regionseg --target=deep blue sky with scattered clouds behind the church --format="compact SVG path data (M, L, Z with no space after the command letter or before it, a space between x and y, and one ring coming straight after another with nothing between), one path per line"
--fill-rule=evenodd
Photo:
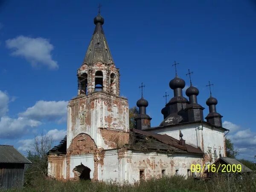
M77 94L76 71L102 4L103 26L130 107L146 85L147 113L157 126L163 95L178 76L205 101L211 81L217 111L240 158L255 160L256 3L216 1L0 0L0 143L26 151L35 134L61 140L67 101Z

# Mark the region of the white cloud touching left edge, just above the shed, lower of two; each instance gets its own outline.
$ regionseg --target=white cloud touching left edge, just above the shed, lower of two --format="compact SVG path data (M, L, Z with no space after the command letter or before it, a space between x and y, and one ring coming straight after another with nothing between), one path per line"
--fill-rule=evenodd
M29 131L29 128L37 127L41 122L37 120L18 117L12 119L2 116L0 119L0 138L17 138Z

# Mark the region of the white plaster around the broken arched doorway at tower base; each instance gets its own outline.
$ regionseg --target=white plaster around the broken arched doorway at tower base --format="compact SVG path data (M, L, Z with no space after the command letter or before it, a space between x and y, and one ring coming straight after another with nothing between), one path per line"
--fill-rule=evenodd
M81 163L90 168L90 178L93 179L94 172L94 159L93 154L84 154L84 155L73 155L70 157L70 178L74 177L73 169L76 166L81 165Z

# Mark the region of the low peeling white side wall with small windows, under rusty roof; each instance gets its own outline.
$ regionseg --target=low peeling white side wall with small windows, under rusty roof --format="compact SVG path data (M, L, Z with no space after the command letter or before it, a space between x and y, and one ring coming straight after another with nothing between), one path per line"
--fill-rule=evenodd
M202 160L200 156L192 154L167 155L156 152L128 151L120 163L120 182L126 180L134 183L140 180L140 170L145 171L145 178L162 177L163 169L166 170L166 175L175 175L175 170L179 169L180 175L187 177L187 170L191 168L191 164L202 165Z

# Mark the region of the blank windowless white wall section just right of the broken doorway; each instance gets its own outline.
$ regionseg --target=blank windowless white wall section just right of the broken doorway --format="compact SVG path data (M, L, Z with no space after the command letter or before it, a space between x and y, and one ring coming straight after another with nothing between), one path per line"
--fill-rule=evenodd
M98 179L103 181L119 181L119 160L117 150L105 152L103 166L99 164Z

